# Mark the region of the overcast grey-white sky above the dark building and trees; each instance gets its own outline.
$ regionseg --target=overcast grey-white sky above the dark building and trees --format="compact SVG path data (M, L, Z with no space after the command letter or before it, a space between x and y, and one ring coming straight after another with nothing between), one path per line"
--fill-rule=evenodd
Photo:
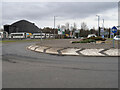
M97 29L97 17L100 15L100 26L102 19L105 27L118 25L118 3L117 2L3 2L2 3L2 25L12 24L19 20L28 20L38 27L53 27L53 16L56 17L57 25L75 22L77 28L81 23L87 23L89 28Z

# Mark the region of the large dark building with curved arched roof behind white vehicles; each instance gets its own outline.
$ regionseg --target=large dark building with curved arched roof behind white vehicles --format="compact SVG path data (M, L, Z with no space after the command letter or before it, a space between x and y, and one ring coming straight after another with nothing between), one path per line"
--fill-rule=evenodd
M34 23L20 20L11 25L4 25L4 31L8 32L8 34L17 32L38 33L40 29Z

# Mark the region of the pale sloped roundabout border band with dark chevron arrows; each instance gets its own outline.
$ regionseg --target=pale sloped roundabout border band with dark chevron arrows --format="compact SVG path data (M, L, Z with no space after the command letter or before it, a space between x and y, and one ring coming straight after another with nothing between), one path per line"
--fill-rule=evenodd
M52 48L38 45L30 45L27 49L62 56L120 56L120 49Z

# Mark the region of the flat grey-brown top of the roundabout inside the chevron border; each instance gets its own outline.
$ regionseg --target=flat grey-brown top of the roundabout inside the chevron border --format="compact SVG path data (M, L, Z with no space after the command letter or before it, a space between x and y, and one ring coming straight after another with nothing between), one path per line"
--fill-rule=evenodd
M55 47L55 48L86 48L86 49L109 49L112 48L112 43L103 43L103 44L96 44L96 43L74 43L72 44L71 41L79 41L80 39L53 39L53 40L43 40L37 45L47 46L47 47ZM118 48L118 44L115 44L115 48Z

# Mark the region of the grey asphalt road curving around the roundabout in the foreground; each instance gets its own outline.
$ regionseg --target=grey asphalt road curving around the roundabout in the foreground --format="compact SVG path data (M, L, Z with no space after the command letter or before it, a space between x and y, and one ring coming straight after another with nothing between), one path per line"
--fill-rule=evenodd
M48 55L26 50L30 44L3 44L3 88L118 87L118 57Z

